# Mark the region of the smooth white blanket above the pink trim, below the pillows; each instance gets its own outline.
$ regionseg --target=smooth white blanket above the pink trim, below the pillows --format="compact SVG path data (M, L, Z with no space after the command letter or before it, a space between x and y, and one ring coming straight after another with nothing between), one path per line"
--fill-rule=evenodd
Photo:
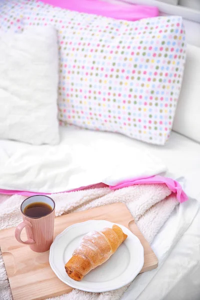
M0 188L53 193L166 170L159 158L124 143L120 134L114 140L113 133L75 127L61 127L60 134L56 146L0 140Z

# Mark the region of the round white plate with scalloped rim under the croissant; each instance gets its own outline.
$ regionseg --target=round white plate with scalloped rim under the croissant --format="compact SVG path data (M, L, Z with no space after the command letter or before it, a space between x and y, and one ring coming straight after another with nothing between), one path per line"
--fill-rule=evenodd
M117 225L127 234L127 238L106 262L91 270L81 281L71 279L65 271L65 263L84 234L111 228L113 224L106 220L89 220L73 224L57 235L49 253L49 263L56 276L71 287L90 292L117 289L132 281L144 263L143 247L139 239L120 224Z

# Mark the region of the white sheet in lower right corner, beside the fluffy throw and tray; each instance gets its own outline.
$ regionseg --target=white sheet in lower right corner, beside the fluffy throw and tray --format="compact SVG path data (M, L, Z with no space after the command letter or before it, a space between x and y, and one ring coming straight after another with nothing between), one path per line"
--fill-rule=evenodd
M139 274L121 300L200 299L200 202L176 206L154 241L158 267Z

